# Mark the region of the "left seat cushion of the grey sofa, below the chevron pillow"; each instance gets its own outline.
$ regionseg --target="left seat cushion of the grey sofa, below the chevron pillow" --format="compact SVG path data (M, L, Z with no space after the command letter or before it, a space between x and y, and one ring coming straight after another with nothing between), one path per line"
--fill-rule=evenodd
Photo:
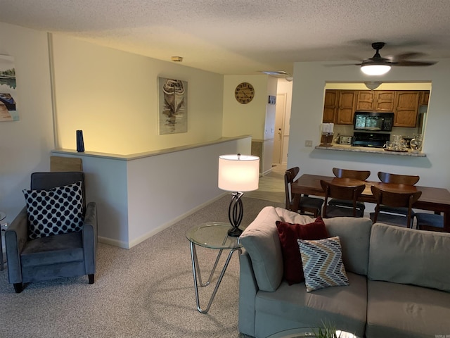
M281 282L276 292L258 292L255 301L255 337L295 327L335 323L339 330L364 337L366 277L348 273L348 287L326 287L307 292L304 283Z

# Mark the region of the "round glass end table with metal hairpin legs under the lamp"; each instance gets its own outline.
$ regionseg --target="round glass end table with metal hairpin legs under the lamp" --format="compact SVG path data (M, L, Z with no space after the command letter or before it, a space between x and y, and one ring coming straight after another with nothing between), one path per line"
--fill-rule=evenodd
M197 310L200 313L207 313L210 310L212 301L214 300L214 296L217 293L217 289L219 289L220 282L224 277L226 268L230 263L233 253L235 251L238 251L239 253L242 252L242 245L240 244L239 237L230 237L228 235L228 230L230 229L231 224L229 223L210 222L196 225L195 227L192 227L190 230L188 230L188 232L186 232L186 237L191 244L191 261L192 273L194 277L195 301L197 302ZM198 265L198 257L197 252L195 251L195 246L203 246L207 249L219 250L214 266L212 267L210 277L206 282L202 282L202 276L200 275L200 268ZM201 308L200 300L198 299L198 285L200 284L200 287L207 287L210 284L212 275L214 275L214 271L217 268L217 263L219 263L221 253L224 250L229 250L230 252L219 275L219 280L217 280L217 284L214 287L214 291L212 292L210 301L208 302L207 307L203 309Z

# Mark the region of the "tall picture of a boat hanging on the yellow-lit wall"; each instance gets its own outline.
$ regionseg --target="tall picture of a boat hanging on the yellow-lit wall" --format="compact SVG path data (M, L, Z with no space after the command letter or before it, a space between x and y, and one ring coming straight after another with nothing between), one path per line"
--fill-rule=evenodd
M158 77L160 135L188 131L188 82Z

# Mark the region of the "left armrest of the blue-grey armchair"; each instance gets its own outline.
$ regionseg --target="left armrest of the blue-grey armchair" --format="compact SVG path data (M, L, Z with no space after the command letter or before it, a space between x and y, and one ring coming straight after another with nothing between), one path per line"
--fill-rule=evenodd
M28 240L28 216L24 207L5 232L6 260L8 261L8 282L22 282L20 253Z

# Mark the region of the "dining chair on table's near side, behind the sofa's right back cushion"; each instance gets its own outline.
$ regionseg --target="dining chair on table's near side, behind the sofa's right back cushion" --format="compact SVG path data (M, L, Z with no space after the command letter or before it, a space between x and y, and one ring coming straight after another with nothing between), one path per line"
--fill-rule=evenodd
M390 192L381 188L371 187L372 194L375 197L377 204L375 206L375 213L370 213L373 223L386 223L390 225L397 225L401 227L413 227L413 204L420 198L422 192ZM406 217L404 215L397 215L394 213L380 213L380 206L388 206L393 208L406 208Z

